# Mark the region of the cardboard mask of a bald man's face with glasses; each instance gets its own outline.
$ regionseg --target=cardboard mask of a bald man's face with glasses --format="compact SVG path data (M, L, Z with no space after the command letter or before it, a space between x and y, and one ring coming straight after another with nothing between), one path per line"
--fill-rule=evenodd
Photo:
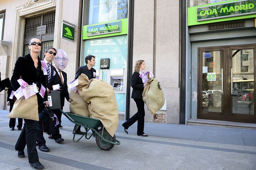
M55 67L59 70L63 70L67 67L68 64L68 55L65 51L62 49L57 49L57 54L53 59L53 62L55 64Z

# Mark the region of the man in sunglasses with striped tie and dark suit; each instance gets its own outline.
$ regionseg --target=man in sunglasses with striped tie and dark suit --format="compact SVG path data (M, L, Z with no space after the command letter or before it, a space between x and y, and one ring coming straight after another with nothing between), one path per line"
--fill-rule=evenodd
M53 47L48 47L44 51L44 62L47 68L47 76L46 77L46 90L47 93L50 93L52 89L52 83L54 81L54 77L56 74L56 69L52 66L51 61L54 59L56 55L56 49ZM46 141L44 139L44 132L42 130L37 130L36 142L38 144L38 149L42 152L49 152L50 149L46 146Z

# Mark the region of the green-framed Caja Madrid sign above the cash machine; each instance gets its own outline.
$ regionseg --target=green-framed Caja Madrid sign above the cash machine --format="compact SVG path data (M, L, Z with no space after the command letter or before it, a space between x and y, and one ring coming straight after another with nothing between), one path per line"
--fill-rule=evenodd
M128 19L83 26L83 39L95 39L127 34Z

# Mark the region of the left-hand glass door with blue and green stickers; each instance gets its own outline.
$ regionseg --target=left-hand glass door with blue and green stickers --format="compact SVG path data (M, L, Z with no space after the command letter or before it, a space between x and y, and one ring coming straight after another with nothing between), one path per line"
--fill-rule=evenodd
M198 118L225 120L223 115L223 49L199 50Z

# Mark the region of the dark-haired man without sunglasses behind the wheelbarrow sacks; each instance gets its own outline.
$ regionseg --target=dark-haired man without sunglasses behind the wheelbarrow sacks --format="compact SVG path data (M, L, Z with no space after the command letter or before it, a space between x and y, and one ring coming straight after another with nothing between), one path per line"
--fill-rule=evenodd
M89 80L95 79L95 77L96 77L96 70L94 68L92 68L93 66L95 66L95 63L96 63L95 56L87 55L85 57L85 63L86 63L85 66L78 67L78 69L76 71L75 79L77 79L78 76L81 75L82 73L86 74L87 77L89 78ZM73 130L73 133L74 133L74 131L75 131L75 128ZM84 134L84 132L81 131L81 126L78 126L78 128L76 130L76 134L80 134L80 135Z

